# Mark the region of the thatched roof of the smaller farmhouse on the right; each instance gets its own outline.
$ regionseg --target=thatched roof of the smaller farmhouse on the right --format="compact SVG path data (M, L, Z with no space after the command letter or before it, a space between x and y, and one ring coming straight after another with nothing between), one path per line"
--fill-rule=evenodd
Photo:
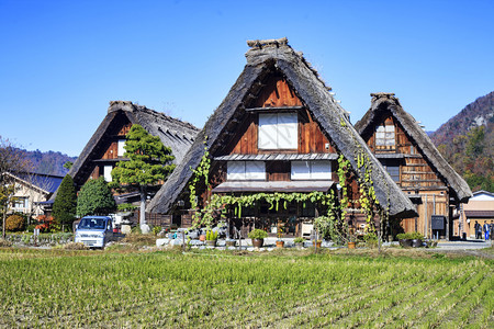
M442 158L441 154L437 150L436 146L434 146L430 138L420 128L415 118L403 110L398 99L394 97L394 93L379 92L371 93L371 107L355 125L359 134L361 136L370 136L373 134L375 121L380 120L383 114L391 114L403 127L405 134L416 143L425 160L433 167L436 173L439 174L442 181L450 186L453 196L459 202L468 202L472 196L472 191L467 182L451 168L451 166L449 166L445 158Z

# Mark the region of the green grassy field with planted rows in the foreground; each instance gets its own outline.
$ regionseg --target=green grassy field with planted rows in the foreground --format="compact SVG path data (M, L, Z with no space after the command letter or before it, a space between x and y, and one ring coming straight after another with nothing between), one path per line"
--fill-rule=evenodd
M494 262L0 249L0 327L487 328Z

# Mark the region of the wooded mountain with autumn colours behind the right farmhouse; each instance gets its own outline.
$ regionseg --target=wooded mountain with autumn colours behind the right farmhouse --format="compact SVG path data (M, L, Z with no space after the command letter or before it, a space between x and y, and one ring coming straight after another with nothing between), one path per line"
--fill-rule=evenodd
M472 191L494 192L494 91L468 104L430 139Z

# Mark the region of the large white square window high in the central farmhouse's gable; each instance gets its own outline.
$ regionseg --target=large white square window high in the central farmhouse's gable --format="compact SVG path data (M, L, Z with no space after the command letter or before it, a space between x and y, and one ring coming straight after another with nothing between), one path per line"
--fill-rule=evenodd
M259 114L259 149L294 149L299 143L296 113Z

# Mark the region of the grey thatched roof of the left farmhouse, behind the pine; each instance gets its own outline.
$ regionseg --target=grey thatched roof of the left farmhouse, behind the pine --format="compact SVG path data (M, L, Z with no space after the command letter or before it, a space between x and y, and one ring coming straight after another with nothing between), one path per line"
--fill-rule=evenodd
M98 147L102 137L108 134L108 129L115 117L122 114L126 115L132 124L142 125L150 135L158 136L165 146L170 147L175 156L175 163L179 163L183 159L199 132L190 123L149 110L146 106L126 101L112 101L106 116L70 168L69 174L77 184L82 184L87 179L87 170L92 167L92 155L100 151Z

